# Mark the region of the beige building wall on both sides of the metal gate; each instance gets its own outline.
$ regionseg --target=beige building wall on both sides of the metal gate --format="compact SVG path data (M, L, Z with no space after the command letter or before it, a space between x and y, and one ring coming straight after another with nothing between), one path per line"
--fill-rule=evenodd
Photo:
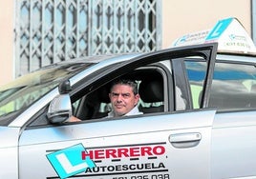
M181 35L211 29L219 19L237 17L250 34L250 0L161 0L162 48ZM0 86L14 78L15 0L0 0Z

